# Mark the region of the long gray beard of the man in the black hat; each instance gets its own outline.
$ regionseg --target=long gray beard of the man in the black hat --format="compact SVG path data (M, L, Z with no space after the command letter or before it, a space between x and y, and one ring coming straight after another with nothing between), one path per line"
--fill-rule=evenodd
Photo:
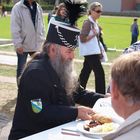
M73 69L73 62L62 62L61 56L58 54L56 59L51 61L52 67L58 74L62 86L65 88L67 95L71 96L78 86L78 78Z

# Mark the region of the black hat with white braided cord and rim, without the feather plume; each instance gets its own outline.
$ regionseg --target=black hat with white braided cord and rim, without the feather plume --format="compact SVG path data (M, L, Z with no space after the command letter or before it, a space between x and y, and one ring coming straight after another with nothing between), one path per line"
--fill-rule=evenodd
M49 26L47 41L68 48L75 48L77 47L79 33L79 29L53 20Z

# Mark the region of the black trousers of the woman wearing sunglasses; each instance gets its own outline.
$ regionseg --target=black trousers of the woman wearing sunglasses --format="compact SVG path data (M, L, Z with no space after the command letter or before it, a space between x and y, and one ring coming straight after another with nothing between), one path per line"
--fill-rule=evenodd
M86 88L92 70L95 75L95 92L105 94L105 74L99 55L85 56L83 68L79 76L80 85Z

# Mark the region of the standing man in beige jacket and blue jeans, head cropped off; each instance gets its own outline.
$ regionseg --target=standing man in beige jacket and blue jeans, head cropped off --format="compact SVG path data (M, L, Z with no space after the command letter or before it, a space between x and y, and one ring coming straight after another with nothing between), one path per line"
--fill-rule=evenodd
M11 12L11 33L17 53L17 82L23 72L28 54L40 51L45 41L42 8L34 0L21 0Z

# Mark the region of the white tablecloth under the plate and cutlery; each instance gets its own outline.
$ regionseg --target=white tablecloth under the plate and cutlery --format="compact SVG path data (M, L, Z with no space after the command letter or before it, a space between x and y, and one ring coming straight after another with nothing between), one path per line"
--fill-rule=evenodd
M110 98L99 99L96 102L93 109L99 113L111 116L118 123L123 122L123 119L120 116L118 116L113 110L111 106ZM79 122L80 121L72 121L70 123L66 123L64 125L60 125L58 127L23 138L22 140L97 140L97 138L94 139L94 138L86 137L82 133L80 133L80 136L71 136L71 135L61 134L62 128L77 130L76 126ZM102 140L102 139L98 139L98 140Z

